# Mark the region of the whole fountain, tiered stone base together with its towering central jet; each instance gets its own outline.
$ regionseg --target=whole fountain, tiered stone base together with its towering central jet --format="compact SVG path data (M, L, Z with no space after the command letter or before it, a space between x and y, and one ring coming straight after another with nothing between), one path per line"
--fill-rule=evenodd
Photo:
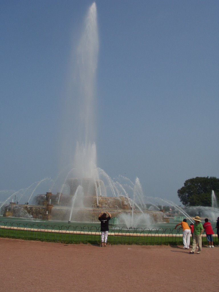
M74 140L78 142L74 161L69 164L71 168L62 182L59 192L52 194L50 190L46 194L37 195L34 197L34 205L30 205L32 192L26 205L10 204L9 211L13 216L20 216L20 212L23 210L33 218L44 220L97 222L101 209L101 211L110 211L113 218L120 218L121 222L129 221L127 224L131 226L138 224L134 221L139 223L146 223L147 220L164 221L163 212L147 210L138 178L135 183L129 180L130 184L126 190L127 183L114 182L96 166L95 75L98 57L98 28L95 3L91 5L86 16L84 31L81 34L76 55L73 74L75 83L72 87L74 90L77 88L77 94L76 92L69 94L71 99L69 99L69 104L67 103L67 109L75 106L72 99L77 95L77 112L79 113L77 126L80 131L79 136L74 137ZM72 112L69 112L68 125L70 127L74 124L71 120L72 116ZM66 133L67 138L71 136L71 130ZM71 145L70 142L69 144ZM69 186L67 194L63 191L64 188L66 189L66 185ZM8 206L6 208L8 209ZM5 215L7 214L5 213Z

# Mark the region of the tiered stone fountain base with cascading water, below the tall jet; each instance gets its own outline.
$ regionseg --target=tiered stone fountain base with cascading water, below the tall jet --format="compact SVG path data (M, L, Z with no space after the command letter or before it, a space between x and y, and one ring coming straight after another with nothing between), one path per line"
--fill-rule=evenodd
M102 180L83 178L82 180L68 179L66 181L69 184L69 194L47 192L36 195L32 205L11 202L9 206L5 207L4 215L69 223L71 221L97 222L99 213L106 210L110 211L113 216L112 224L120 222L128 227L168 221L163 212L147 210L146 206L142 208L134 193L132 197L135 198L135 201L125 195L108 196ZM139 180L137 181L139 184ZM113 194L121 194L118 185L121 184L111 180L110 188ZM121 185L121 189L127 195L128 191L124 187ZM136 191L135 185L132 191Z

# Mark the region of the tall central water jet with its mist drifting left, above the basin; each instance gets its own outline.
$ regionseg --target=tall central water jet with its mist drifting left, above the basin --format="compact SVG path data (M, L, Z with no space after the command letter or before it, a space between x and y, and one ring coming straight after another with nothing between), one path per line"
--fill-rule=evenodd
M69 89L64 105L62 145L65 147L63 152L67 162L70 161L74 166L74 178L97 179L95 120L98 49L97 10L94 2L88 9L78 45L72 48ZM73 154L74 146L76 149Z

